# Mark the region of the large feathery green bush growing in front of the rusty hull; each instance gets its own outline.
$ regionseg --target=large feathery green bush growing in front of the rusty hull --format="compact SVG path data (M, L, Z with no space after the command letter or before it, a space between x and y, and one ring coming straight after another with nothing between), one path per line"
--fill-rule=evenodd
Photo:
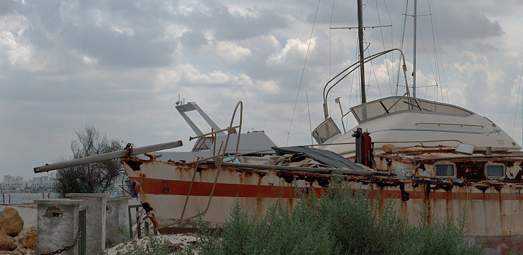
M482 245L469 247L464 238L464 213L457 220L433 216L427 224L425 207L422 220L412 224L395 200L380 210L378 198L350 187L340 175L333 175L319 196L294 187L299 199L292 213L277 201L258 219L236 199L221 237L211 234L200 217L199 254L483 254Z

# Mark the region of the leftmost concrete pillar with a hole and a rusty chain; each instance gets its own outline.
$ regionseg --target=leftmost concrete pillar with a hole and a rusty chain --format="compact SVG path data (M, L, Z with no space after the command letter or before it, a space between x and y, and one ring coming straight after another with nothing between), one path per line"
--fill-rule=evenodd
M49 253L73 244L78 234L78 208L83 200L36 199L38 253ZM87 210L89 211L89 210ZM63 255L77 255L78 247Z

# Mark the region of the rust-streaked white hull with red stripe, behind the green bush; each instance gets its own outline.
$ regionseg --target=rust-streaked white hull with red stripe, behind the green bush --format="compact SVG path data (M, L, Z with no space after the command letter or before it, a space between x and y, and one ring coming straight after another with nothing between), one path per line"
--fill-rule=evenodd
M377 165L384 164L385 169L410 163L407 159L394 158L392 161L388 156L374 156ZM521 169L521 159L488 159L488 162L496 161L509 162ZM153 223L159 227L178 221L196 164L133 158L123 158L122 163L144 209L153 215ZM427 167L424 167L424 171L430 172L430 164L425 162L425 165ZM207 206L218 166L198 165L196 171L184 218L195 215L198 209L203 210ZM396 199L397 207L402 214L408 215L411 222L420 219L420 210L426 203L433 217L458 218L463 209L467 210L469 241L471 244L485 241L486 253L502 254L507 249L523 250L523 195L520 192L523 184L519 181L521 174L508 183L467 181L467 171L468 169L460 170L458 167L457 174L462 175L461 178L465 180L461 183L453 180L373 176L347 176L346 179L355 186L370 190L371 195L380 195L382 200ZM256 212L258 215L265 212L268 202L275 202L277 199L293 207L296 203L292 187L294 178L298 180L299 187L320 191L328 184L330 177L329 174L222 166L209 210L202 220L210 228L223 227L236 197L249 213ZM189 220L176 226L195 228L196 221ZM164 228L161 231L169 230Z

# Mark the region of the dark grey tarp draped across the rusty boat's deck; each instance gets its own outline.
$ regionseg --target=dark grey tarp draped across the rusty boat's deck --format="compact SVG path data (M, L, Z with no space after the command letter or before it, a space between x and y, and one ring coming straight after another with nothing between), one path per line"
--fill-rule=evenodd
M325 165L334 166L336 168L349 168L354 170L362 170L363 167L356 165L355 163L345 159L341 155L327 150L320 150L316 148L309 148L303 146L293 146L293 147L276 147L273 146L271 149L275 150L278 155L289 154L289 152L294 153L304 153L311 159L320 162Z

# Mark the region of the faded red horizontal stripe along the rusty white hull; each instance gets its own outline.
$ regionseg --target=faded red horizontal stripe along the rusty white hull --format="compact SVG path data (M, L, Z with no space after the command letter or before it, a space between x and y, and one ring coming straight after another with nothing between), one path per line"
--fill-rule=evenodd
M190 181L162 180L151 178L134 178L139 185L135 187L137 193L154 195L181 195L186 196L189 192ZM213 183L201 183L195 181L192 184L191 196L210 196ZM309 187L311 189L311 187ZM324 188L313 188L320 193ZM441 192L431 191L427 196L426 191L405 191L409 193L409 199L459 199L459 200L522 200L521 193L495 193L488 192ZM380 194L381 198L401 198L400 190L373 189L370 196ZM217 183L214 189L214 197L241 197L241 198L294 198L293 187L268 186L268 185L246 185L246 184L223 184Z

